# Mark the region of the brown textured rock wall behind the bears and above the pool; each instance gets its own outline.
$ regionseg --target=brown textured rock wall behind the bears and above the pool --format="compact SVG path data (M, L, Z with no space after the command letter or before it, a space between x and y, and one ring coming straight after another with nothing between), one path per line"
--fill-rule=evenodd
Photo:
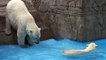
M0 2L0 44L16 43L16 33L6 36L3 32L5 6L8 1ZM60 37L92 41L106 38L106 0L24 0L24 2L38 26L42 28L41 39Z

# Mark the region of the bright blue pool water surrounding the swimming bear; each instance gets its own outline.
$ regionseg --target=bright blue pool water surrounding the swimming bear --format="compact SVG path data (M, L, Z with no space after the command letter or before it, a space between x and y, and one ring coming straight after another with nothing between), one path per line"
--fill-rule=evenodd
M90 42L75 42L69 39L48 39L28 48L18 45L1 45L0 60L106 60L106 39L97 40L97 49L82 56L64 56L63 50L84 49Z

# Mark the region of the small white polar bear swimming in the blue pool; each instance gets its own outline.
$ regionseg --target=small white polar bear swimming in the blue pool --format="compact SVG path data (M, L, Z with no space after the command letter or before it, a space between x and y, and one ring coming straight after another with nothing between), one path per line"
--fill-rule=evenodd
M64 50L63 55L68 55L68 56L82 55L95 50L96 47L97 45L95 43L90 43L87 45L87 47L84 50Z

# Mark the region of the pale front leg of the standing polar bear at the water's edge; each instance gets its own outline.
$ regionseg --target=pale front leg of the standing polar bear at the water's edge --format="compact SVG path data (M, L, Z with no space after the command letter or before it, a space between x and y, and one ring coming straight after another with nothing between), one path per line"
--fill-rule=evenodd
M25 32L22 31L21 29L18 29L18 31L17 31L18 44L22 48L27 47L27 45L25 45L25 36L26 36Z

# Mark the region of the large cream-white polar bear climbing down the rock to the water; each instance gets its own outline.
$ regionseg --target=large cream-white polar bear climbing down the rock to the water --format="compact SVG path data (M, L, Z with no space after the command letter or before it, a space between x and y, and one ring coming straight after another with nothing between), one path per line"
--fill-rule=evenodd
M28 43L38 42L40 28L36 25L34 18L29 13L22 0L11 0L6 7L6 28L5 33L11 33L11 26L17 29L18 44L26 47L25 37Z

